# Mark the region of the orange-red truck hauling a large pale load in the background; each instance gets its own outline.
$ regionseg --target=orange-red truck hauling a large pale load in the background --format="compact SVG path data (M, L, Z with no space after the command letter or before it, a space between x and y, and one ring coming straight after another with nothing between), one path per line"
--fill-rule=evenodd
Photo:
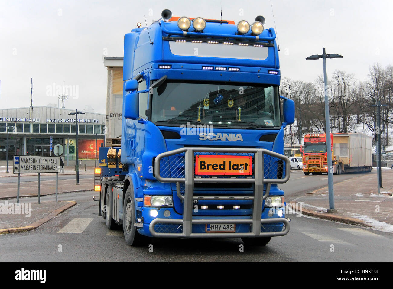
M372 139L362 133L331 133L332 173L370 172ZM327 173L326 133L307 133L301 147L303 172L306 176Z

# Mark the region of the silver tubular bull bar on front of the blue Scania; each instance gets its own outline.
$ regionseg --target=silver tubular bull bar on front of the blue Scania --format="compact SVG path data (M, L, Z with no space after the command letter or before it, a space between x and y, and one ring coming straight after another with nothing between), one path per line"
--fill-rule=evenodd
M194 176L194 152L206 153L253 153L254 154L254 178L253 179L212 179L212 178L195 178ZM184 178L167 178L160 175L160 160L162 158L185 153L185 177ZM264 155L270 155L275 158L285 161L285 177L283 179L264 179L263 158ZM250 148L224 148L224 147L183 147L161 153L154 160L155 177L160 182L175 182L176 194L180 199L184 200L183 219L154 219L149 226L150 233L154 237L178 237L178 238L206 238L206 237L272 237L284 236L289 232L289 222L281 218L261 219L262 201L269 195L270 184L283 184L289 180L290 162L289 159L279 153L269 151L267 149L250 149ZM180 193L180 183L185 183L184 196ZM248 200L253 200L252 204L252 219L193 219L193 201L207 200L207 199L230 199L230 200L244 200L243 196L208 196L208 197L194 197L194 183L195 182L212 182L212 183L253 183L254 195L248 197ZM266 193L263 195L263 185L266 184ZM163 224L179 224L182 225L182 233L158 233L154 226L158 223ZM192 233L193 224L251 224L252 232L245 233ZM261 225L270 223L283 223L285 229L281 232L262 232Z

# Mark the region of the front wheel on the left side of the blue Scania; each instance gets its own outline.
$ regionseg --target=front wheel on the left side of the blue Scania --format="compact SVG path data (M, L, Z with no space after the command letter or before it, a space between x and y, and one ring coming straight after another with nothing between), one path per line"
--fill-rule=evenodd
M136 226L134 226L134 223L136 223L134 210L134 190L130 185L123 199L123 233L125 242L129 246L138 246L143 243L143 236L138 233Z

